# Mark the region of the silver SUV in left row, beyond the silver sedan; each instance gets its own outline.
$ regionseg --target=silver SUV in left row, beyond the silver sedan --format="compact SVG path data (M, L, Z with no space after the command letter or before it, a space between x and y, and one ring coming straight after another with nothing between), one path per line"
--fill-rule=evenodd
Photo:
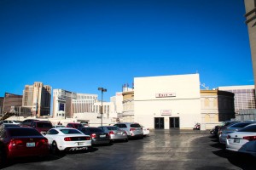
M143 127L137 122L119 122L113 126L119 127L120 129L125 130L128 138L138 137L143 138Z

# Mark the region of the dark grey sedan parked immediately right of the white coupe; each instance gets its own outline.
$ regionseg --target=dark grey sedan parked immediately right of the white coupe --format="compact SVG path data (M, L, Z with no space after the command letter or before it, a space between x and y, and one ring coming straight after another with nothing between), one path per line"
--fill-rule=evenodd
M79 131L86 135L90 135L91 144L109 144L110 139L108 133L104 133L99 127L79 127Z

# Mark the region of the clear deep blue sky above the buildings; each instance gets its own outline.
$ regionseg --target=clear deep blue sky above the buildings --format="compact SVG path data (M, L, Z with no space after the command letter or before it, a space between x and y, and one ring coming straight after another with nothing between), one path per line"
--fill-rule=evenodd
M43 82L104 100L134 77L252 85L243 0L1 0L0 96Z

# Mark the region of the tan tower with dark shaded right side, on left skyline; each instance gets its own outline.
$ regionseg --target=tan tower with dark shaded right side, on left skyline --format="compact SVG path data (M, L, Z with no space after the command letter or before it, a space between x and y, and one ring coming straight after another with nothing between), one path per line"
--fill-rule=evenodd
M33 116L50 115L51 87L43 82L26 85L23 90L22 106L31 108Z

